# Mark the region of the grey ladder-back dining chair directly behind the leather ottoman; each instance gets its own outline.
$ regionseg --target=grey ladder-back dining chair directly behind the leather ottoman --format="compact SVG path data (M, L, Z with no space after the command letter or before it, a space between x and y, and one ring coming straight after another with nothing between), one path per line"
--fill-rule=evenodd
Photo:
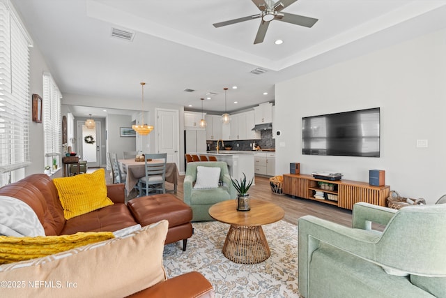
M138 180L139 196L166 193L167 153L144 154L144 159L146 176Z

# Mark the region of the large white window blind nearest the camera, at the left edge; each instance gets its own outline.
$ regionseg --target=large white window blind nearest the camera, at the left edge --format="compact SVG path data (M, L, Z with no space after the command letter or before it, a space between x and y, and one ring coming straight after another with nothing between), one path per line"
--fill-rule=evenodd
M9 1L0 0L0 186L29 165L31 38Z

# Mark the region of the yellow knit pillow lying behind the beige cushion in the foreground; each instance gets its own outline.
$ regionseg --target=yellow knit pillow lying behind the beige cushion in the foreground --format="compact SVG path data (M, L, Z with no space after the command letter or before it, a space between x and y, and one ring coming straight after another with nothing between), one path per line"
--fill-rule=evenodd
M0 236L0 264L42 258L112 238L112 232L77 232L72 235L37 237Z

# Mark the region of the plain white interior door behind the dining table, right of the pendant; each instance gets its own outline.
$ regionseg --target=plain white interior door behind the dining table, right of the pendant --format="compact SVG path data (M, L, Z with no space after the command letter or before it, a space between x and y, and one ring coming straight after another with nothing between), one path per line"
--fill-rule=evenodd
M157 109L157 152L167 153L167 162L180 167L178 110Z

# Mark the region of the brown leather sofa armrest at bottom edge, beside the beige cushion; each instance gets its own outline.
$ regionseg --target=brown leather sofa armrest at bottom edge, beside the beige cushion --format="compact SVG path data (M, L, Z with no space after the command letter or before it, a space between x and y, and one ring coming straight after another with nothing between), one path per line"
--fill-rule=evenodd
M215 292L209 281L199 272L193 271L187 274L169 278L140 292L130 295L131 298L143 297L197 297L213 298Z

